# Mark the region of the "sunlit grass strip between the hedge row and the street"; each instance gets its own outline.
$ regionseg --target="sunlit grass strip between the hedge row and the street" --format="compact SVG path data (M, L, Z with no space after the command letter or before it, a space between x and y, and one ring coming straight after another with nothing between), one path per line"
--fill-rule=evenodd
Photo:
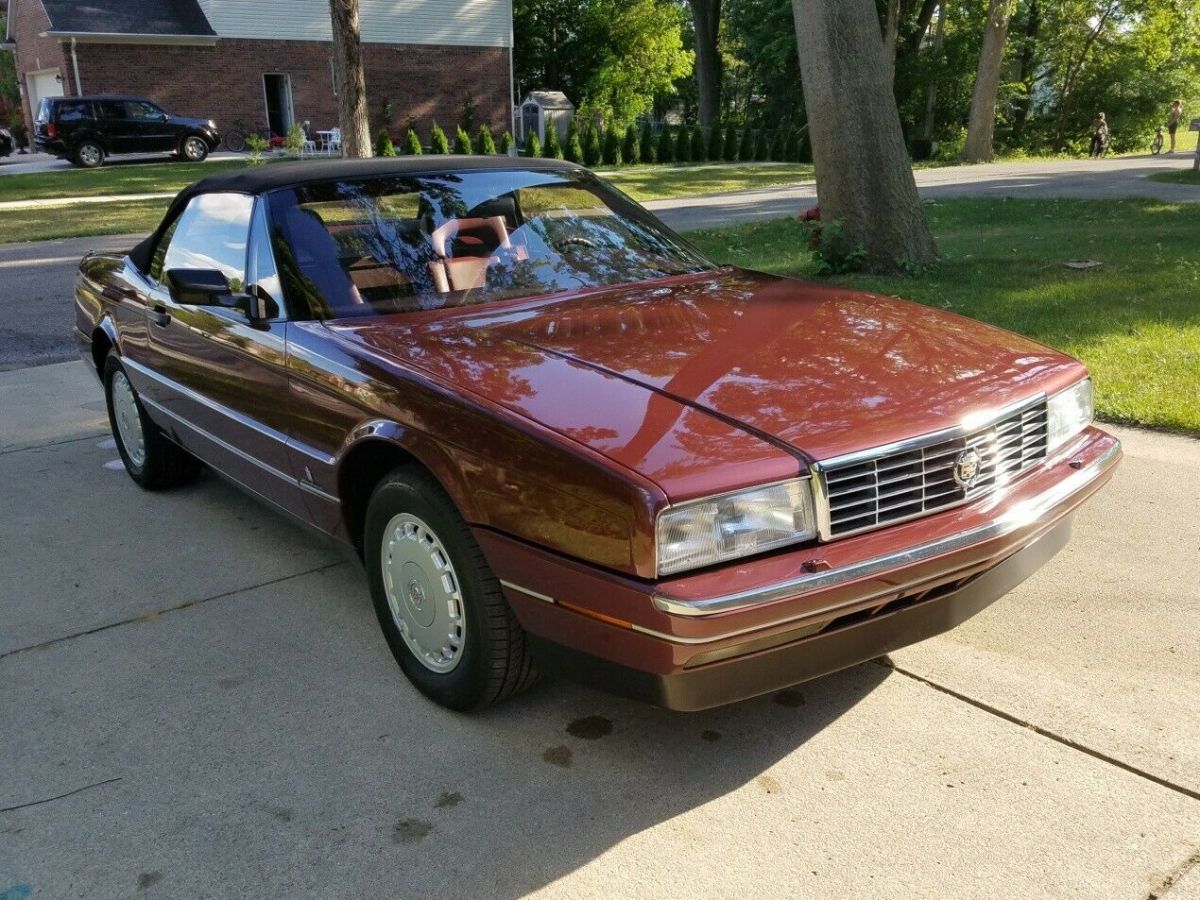
M635 200L664 200L811 181L812 167L800 163L631 166L605 178Z

